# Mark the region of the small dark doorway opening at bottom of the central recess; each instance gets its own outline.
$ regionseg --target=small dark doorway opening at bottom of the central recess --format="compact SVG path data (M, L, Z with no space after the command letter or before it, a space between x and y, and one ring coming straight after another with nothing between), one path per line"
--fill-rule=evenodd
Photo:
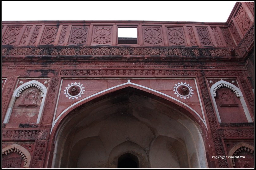
M119 156L117 168L139 168L137 156L130 153Z

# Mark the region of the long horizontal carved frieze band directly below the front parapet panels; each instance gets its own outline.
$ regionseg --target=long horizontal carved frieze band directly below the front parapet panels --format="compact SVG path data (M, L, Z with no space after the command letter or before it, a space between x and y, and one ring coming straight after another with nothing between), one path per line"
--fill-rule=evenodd
M230 56L227 48L173 47L5 47L5 55L164 55L164 56ZM238 56L238 53L235 52Z

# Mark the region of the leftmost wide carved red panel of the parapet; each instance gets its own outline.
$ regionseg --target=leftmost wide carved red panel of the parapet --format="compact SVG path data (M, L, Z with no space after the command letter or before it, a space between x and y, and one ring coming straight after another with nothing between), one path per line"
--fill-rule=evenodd
M8 27L5 35L3 36L2 45L14 45L20 34L21 27Z

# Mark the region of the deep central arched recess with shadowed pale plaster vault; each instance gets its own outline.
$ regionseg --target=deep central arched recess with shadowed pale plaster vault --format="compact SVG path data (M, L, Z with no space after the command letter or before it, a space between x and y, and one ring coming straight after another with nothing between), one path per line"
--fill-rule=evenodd
M201 130L179 109L131 87L89 101L59 126L52 167L205 168Z

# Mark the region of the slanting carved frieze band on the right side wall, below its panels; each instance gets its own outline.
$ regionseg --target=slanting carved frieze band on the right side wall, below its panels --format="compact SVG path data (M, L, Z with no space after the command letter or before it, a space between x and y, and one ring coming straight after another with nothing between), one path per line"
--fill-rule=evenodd
M242 54L244 54L247 51L247 48L250 47L251 43L254 41L254 25L251 27L251 29L246 33L244 36L244 39L239 45L239 49Z

